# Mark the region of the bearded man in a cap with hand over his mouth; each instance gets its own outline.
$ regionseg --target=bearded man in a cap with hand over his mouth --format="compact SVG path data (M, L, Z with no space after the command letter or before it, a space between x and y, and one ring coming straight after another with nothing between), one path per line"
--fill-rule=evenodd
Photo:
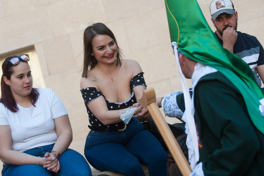
M260 42L255 36L236 31L238 13L230 0L212 1L210 11L219 42L248 64L260 87L260 78L264 81L264 50Z

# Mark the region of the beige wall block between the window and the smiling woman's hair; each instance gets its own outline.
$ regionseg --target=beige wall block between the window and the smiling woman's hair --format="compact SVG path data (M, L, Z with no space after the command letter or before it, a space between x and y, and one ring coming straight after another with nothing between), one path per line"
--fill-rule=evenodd
M73 56L69 36L61 36L41 44L50 75L68 72L69 70L75 74L79 71Z

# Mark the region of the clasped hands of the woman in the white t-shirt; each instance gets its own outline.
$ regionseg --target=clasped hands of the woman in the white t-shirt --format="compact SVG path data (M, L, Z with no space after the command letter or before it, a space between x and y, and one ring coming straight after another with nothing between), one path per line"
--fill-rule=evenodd
M50 172L59 172L60 170L60 162L57 160L56 155L54 153L46 152L44 157L43 167L47 168Z

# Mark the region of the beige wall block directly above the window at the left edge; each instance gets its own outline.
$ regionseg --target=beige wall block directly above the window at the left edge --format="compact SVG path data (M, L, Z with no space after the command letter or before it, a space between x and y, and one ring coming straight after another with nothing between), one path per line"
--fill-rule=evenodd
M0 40L5 42L0 48L0 53L53 38L45 8L14 13L0 19L0 23L3 26L0 29Z

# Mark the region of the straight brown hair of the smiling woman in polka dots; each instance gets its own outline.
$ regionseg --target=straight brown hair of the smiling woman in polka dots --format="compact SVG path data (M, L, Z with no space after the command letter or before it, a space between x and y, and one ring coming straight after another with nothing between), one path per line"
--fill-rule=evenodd
M122 58L122 51L117 45L116 38L113 32L103 23L95 23L91 26L88 26L84 30L83 36L83 52L84 52L84 61L83 61L83 69L82 69L82 77L87 78L87 73L92 68L95 67L97 61L94 56L91 55L93 48L92 48L92 39L98 35L108 35L113 38L114 42L116 43L118 53L116 55L116 66L120 64L120 59Z

